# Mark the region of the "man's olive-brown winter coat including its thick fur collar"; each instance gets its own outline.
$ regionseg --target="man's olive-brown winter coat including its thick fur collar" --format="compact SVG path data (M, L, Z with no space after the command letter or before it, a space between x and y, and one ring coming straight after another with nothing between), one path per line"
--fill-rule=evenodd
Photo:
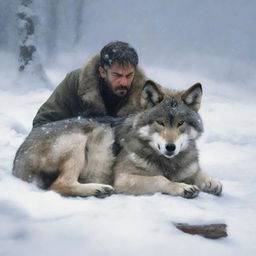
M99 60L96 55L86 65L67 74L49 99L40 107L33 127L77 116L105 116L106 107L99 88ZM130 91L120 102L114 116L123 116L139 111L141 93L148 78L137 67Z

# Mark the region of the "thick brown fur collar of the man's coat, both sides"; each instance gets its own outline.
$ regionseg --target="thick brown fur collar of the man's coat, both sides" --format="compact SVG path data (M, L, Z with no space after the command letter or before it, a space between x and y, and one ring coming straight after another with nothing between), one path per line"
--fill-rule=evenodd
M99 89L99 61L100 55L97 54L81 69L79 75L78 97L83 106L90 105L101 112L105 112L105 105ZM147 81L148 78L145 76L144 72L137 67L135 70L135 77L128 94L128 99L118 110L118 116L130 114L141 109L141 92Z

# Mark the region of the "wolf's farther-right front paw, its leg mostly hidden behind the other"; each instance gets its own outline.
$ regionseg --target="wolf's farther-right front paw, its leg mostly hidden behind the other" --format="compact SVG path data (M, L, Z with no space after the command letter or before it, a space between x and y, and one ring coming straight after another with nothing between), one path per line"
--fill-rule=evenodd
M198 171L193 176L194 184L202 191L220 196L222 192L222 184L220 181L213 179L202 171Z

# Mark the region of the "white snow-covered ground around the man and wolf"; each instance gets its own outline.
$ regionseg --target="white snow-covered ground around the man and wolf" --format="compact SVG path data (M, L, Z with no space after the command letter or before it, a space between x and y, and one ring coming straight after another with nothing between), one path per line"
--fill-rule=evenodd
M222 181L223 195L200 193L192 200L162 194L64 198L14 178L14 154L50 91L20 93L14 89L17 82L12 75L2 71L1 256L256 255L256 103L248 100L255 95L240 84L152 67L146 70L174 88L202 82L200 113L205 133L199 142L201 164L205 172ZM54 84L64 77L56 70L48 70L48 74ZM228 237L209 240L185 234L174 222L226 223Z

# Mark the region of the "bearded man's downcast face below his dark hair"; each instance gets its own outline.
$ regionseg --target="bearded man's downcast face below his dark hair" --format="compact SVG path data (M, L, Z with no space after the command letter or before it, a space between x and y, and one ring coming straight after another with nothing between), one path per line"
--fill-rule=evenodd
M107 70L99 67L99 72L111 91L119 97L124 97L131 88L135 68L130 64L122 66L113 63Z

